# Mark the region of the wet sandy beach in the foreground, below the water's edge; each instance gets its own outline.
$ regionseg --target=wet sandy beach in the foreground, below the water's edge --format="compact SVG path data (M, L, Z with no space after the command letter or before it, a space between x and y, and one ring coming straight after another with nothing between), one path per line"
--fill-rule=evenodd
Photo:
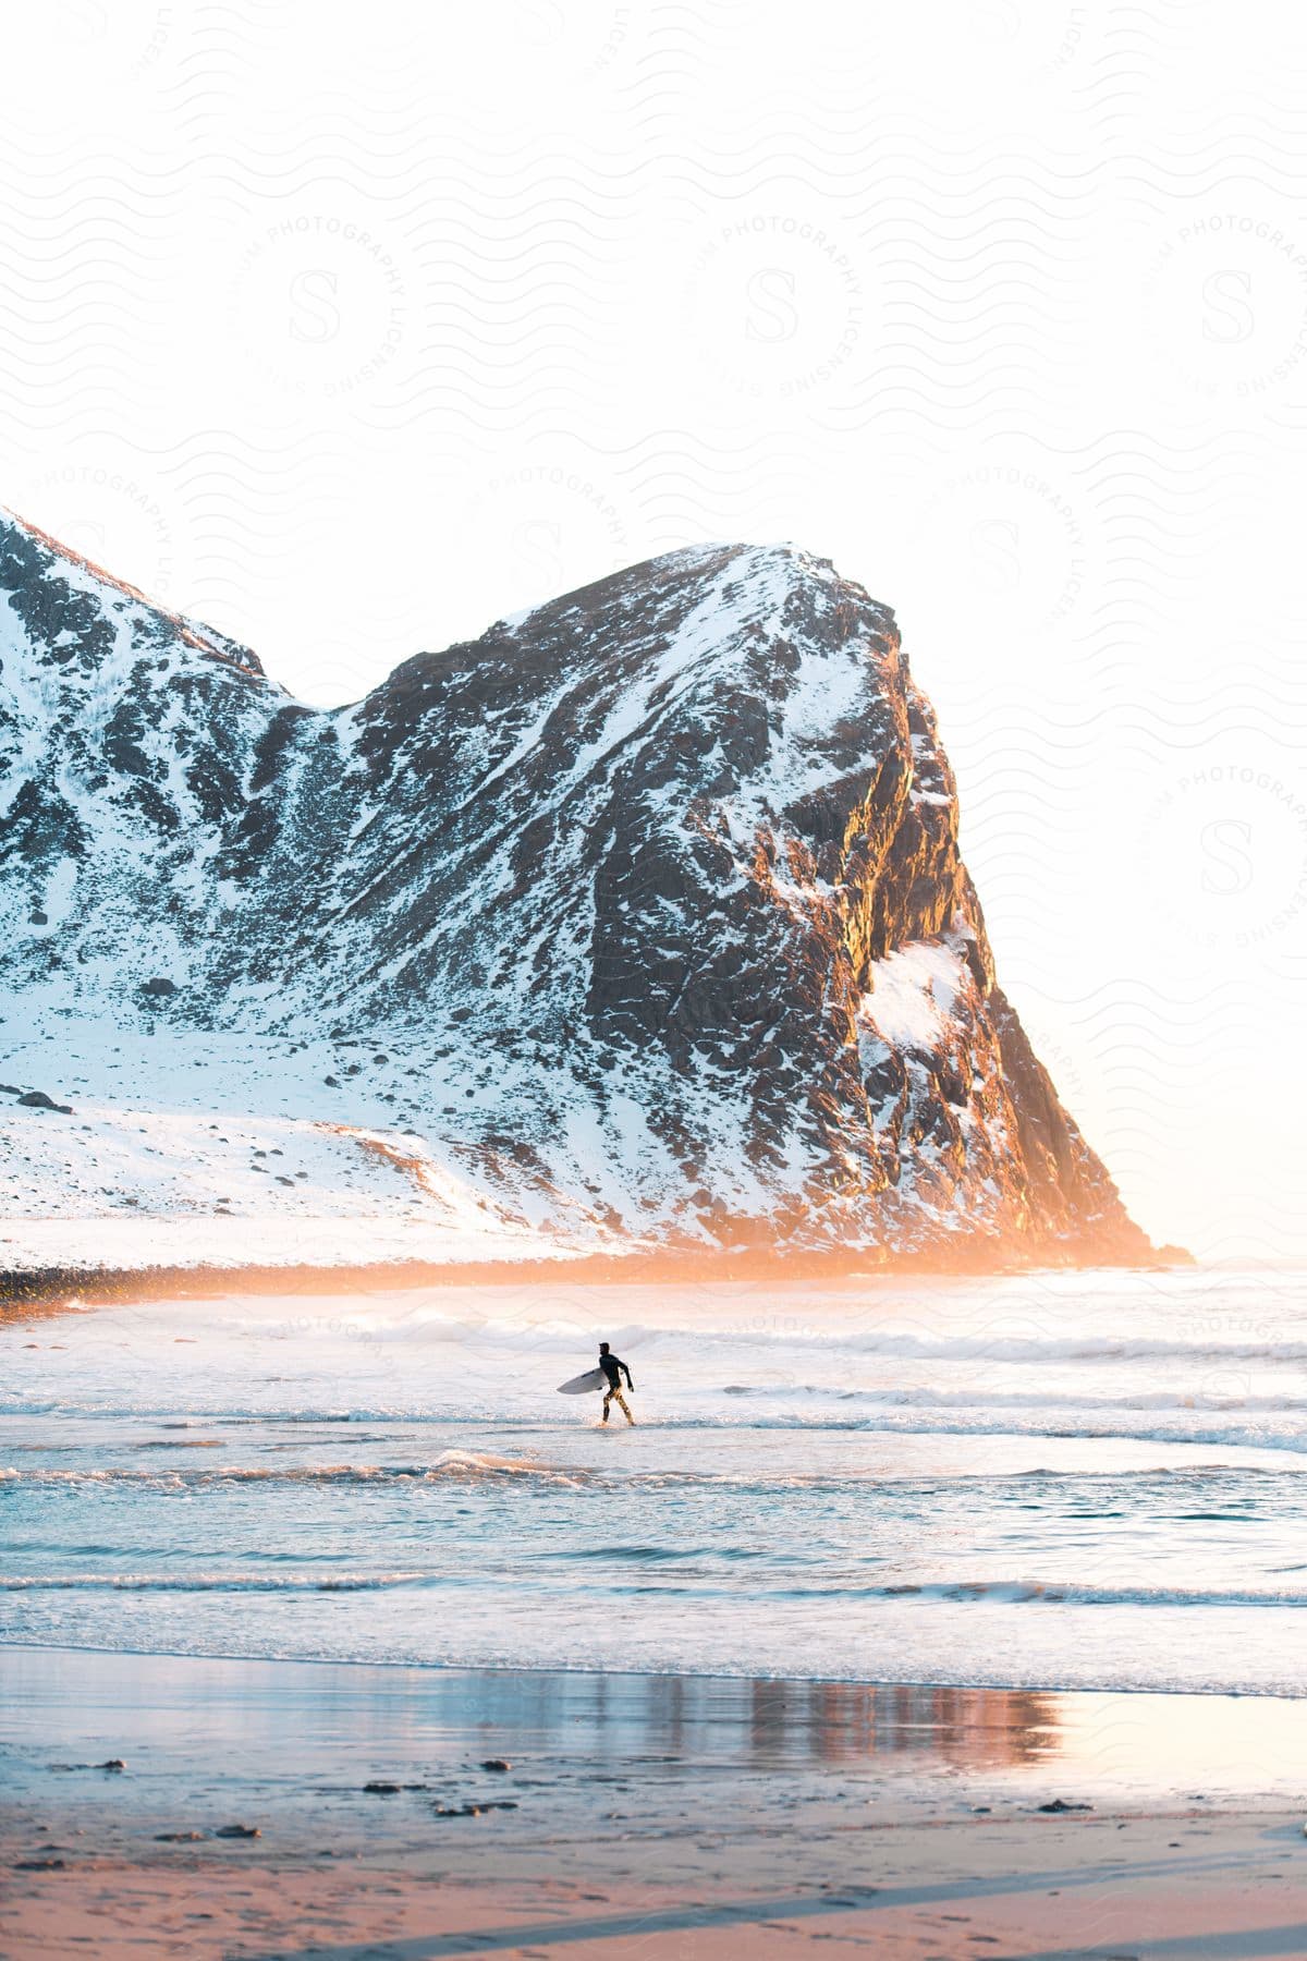
M12 1961L1307 1951L1303 1702L57 1649L0 1677Z

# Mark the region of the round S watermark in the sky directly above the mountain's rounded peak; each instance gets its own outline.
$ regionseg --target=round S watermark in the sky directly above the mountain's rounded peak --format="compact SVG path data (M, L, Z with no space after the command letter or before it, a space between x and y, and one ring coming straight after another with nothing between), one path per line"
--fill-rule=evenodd
M831 226L796 214L725 220L690 263L686 326L723 388L750 400L819 392L866 339L860 259Z

